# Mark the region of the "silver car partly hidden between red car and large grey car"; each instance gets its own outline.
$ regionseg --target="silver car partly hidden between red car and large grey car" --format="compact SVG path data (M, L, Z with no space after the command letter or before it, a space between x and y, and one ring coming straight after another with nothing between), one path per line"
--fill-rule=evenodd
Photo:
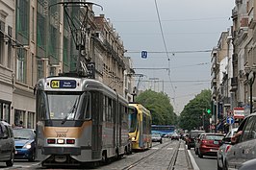
M227 151L231 147L231 137L236 134L238 131L238 128L233 128L231 131L229 131L224 138L221 141L221 145L218 148L217 153L217 163L218 163L218 170L227 170L226 166L226 154Z

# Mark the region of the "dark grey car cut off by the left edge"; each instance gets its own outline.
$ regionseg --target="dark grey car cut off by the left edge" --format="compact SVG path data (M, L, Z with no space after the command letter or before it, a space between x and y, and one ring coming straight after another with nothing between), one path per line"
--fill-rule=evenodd
M15 153L13 129L10 124L0 121L0 161L7 166L13 166Z

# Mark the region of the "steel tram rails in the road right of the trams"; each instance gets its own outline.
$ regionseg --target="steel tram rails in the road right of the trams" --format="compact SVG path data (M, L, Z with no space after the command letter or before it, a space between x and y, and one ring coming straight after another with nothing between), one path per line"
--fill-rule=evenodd
M169 150L170 148L168 148L168 147L171 145L171 142L172 141L168 141L168 142L166 142L165 145L159 145L162 147L157 150L154 150L150 154L138 159L137 161L134 161L133 163L123 167L122 170L137 169L137 167L140 166L142 163L145 163L146 161L150 161L151 158L153 159L154 156L156 156L157 154L160 154L161 152L163 152L163 150ZM175 147L173 147L171 149L173 151L172 151L172 154L169 154L169 156L171 156L171 158L168 160L168 164L166 165L166 170L174 170L175 162L176 162L176 159L177 159L178 153L179 153L180 144L181 144L181 141L177 142ZM158 145L156 145L156 146L158 146ZM154 146L154 147L156 147L156 146ZM151 148L151 150L152 149L153 148Z

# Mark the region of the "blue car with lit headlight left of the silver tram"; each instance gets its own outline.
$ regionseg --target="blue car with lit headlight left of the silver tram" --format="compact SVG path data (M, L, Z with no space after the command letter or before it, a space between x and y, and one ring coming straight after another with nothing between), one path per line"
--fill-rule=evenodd
M16 148L14 158L34 161L36 156L36 131L34 129L19 128L13 129L13 134Z

